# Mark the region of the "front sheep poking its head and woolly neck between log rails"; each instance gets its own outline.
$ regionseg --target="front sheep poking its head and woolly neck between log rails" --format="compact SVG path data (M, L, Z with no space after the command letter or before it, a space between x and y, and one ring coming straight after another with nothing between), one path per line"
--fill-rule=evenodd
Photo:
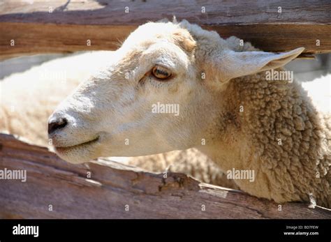
M251 195L330 207L330 113L296 81L266 78L304 48L233 46L185 20L138 27L50 116L57 155L80 163L194 147Z

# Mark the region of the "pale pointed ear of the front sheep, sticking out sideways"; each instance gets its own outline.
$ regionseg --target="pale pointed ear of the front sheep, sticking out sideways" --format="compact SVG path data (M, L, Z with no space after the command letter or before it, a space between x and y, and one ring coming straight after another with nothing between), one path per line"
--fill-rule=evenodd
M227 50L221 56L222 81L226 82L235 77L279 68L295 59L303 50L304 47L301 47L279 54L272 52L234 52L233 50Z

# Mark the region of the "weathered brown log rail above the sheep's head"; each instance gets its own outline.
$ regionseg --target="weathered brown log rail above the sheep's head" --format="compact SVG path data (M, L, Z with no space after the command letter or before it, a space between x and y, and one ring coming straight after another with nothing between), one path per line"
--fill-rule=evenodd
M4 1L0 59L22 54L115 50L146 21L175 15L223 38L237 36L261 50L305 47L302 56L331 51L328 0L277 1ZM13 40L15 45L13 45ZM87 41L91 45L87 45ZM12 45L10 45L12 44Z

